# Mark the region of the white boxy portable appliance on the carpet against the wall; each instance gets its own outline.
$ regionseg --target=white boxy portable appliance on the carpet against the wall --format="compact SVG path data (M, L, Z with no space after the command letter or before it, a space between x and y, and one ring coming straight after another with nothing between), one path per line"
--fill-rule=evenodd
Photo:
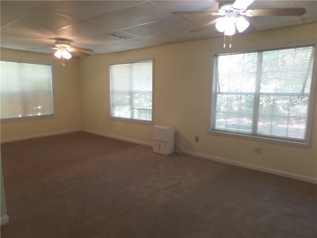
M163 155L173 154L174 134L173 127L155 125L153 127L153 152Z

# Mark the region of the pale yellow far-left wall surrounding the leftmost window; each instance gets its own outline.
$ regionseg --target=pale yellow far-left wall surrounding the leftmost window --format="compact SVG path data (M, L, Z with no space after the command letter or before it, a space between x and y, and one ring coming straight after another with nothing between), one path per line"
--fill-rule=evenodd
M1 60L52 64L54 103L53 117L1 120L1 141L81 128L78 59L63 67L53 55L1 49Z

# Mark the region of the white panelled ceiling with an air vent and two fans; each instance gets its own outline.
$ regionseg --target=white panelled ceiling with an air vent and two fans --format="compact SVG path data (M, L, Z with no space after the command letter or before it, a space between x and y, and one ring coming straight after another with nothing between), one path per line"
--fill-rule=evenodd
M302 16L249 17L245 32L317 22L317 0L256 0L248 8L305 7ZM36 0L0 1L2 48L53 53L55 38L72 46L90 48L92 55L222 37L214 25L191 30L216 16L172 15L173 11L217 11L216 0ZM119 39L116 33L130 37Z

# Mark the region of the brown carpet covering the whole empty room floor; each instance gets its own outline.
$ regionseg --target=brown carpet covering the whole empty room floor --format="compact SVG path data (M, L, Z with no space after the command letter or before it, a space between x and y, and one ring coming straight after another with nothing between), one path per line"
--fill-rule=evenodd
M1 154L1 238L317 238L316 184L84 132Z

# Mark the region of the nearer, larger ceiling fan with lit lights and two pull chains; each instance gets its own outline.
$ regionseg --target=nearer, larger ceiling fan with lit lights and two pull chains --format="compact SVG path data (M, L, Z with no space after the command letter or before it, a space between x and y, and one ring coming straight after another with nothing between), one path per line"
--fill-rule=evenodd
M267 9L247 9L254 0L231 0L219 1L218 11L176 11L172 14L209 14L218 17L206 24L190 31L198 32L205 27L215 24L219 32L224 32L225 36L232 36L237 30L241 33L245 31L250 23L246 17L252 16L301 16L306 12L305 8L267 8ZM230 44L231 46L231 44ZM225 44L224 44L225 48ZM231 47L229 47L231 48Z

